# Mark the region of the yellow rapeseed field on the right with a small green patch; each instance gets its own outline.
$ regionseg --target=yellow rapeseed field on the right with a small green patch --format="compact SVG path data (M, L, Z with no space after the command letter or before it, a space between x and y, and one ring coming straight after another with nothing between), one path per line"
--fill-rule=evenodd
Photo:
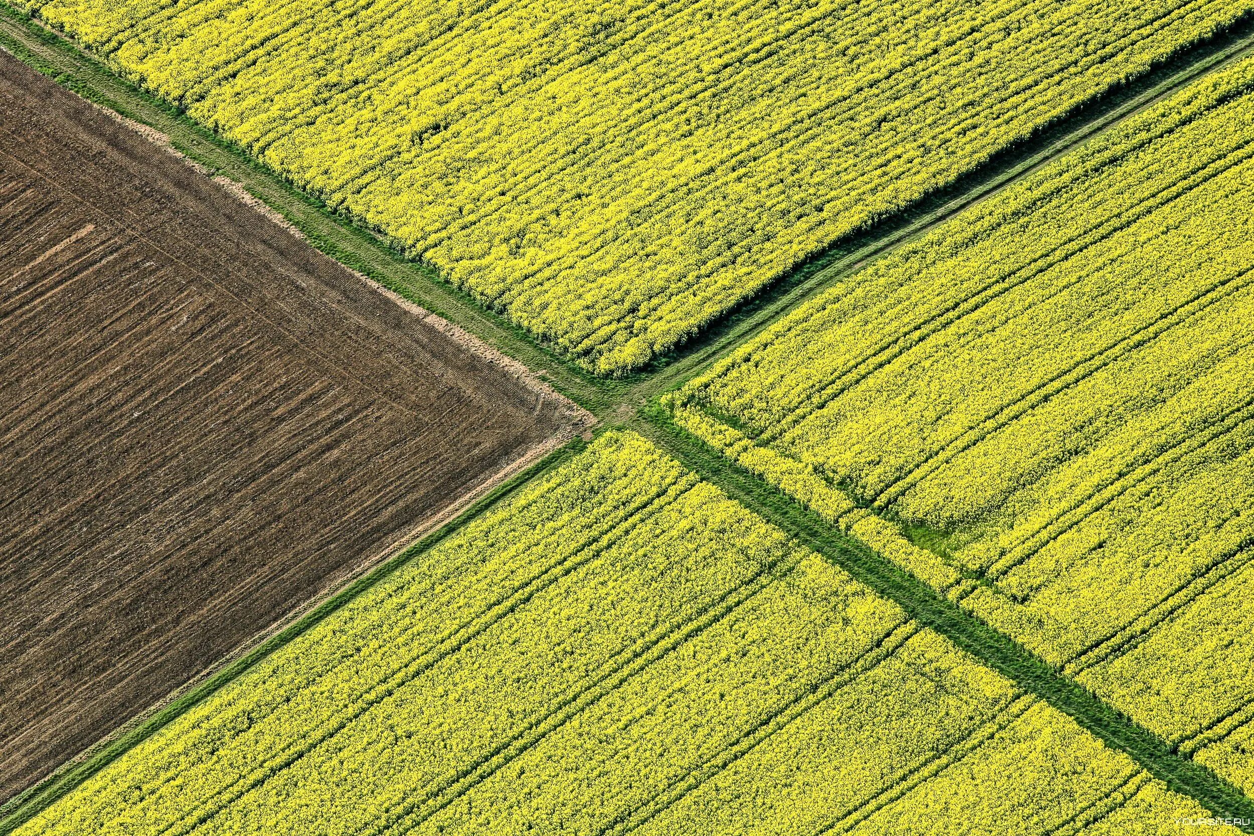
M1251 204L1245 60L850 277L672 406L1254 790Z

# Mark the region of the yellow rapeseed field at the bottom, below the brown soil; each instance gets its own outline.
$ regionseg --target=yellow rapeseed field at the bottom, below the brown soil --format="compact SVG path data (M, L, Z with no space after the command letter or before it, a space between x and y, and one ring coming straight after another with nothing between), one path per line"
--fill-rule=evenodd
M1204 815L612 432L18 833L1099 836Z

